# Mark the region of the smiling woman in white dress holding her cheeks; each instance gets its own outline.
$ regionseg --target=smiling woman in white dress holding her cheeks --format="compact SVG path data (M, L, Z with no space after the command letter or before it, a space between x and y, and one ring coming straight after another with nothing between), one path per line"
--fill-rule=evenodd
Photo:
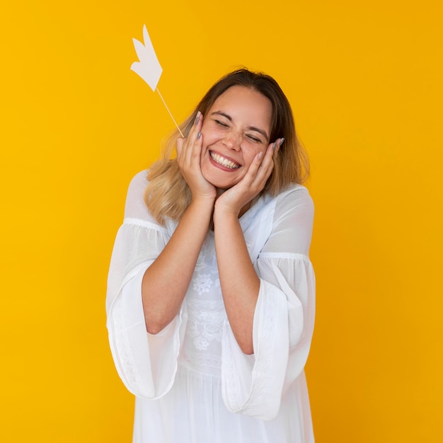
M133 441L313 442L313 204L287 98L240 69L182 130L132 180L108 277Z

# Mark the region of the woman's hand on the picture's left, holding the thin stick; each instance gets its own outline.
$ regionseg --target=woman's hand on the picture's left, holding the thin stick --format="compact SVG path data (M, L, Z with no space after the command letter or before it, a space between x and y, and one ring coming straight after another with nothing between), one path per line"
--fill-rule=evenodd
M202 175L202 130L203 115L198 111L194 125L188 137L179 137L176 141L177 163L183 177L192 192L192 199L200 197L214 198L217 190Z

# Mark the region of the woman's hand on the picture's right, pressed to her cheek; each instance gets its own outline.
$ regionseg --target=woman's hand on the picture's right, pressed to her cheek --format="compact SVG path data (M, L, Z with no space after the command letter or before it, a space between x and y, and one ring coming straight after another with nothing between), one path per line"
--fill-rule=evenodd
M241 181L217 198L216 211L222 210L222 212L229 212L238 217L241 209L265 188L274 167L274 159L283 141L284 139L277 139L275 143L267 146L264 156L263 152L255 156Z

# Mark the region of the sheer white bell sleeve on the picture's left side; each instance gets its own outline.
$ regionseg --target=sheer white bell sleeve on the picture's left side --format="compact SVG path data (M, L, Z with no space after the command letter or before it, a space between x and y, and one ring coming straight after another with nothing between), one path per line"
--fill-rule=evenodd
M146 332L142 278L168 241L168 232L147 211L146 172L130 184L125 220L120 227L108 275L106 311L115 367L127 389L144 398L163 396L173 384L185 311L161 333Z

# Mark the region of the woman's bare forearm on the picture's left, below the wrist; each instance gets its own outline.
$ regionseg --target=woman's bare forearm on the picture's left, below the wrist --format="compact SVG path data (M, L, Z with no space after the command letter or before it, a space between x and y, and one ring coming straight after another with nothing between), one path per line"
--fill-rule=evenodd
M159 333L180 309L208 231L214 206L210 200L192 200L165 248L144 273L142 300L149 333Z

